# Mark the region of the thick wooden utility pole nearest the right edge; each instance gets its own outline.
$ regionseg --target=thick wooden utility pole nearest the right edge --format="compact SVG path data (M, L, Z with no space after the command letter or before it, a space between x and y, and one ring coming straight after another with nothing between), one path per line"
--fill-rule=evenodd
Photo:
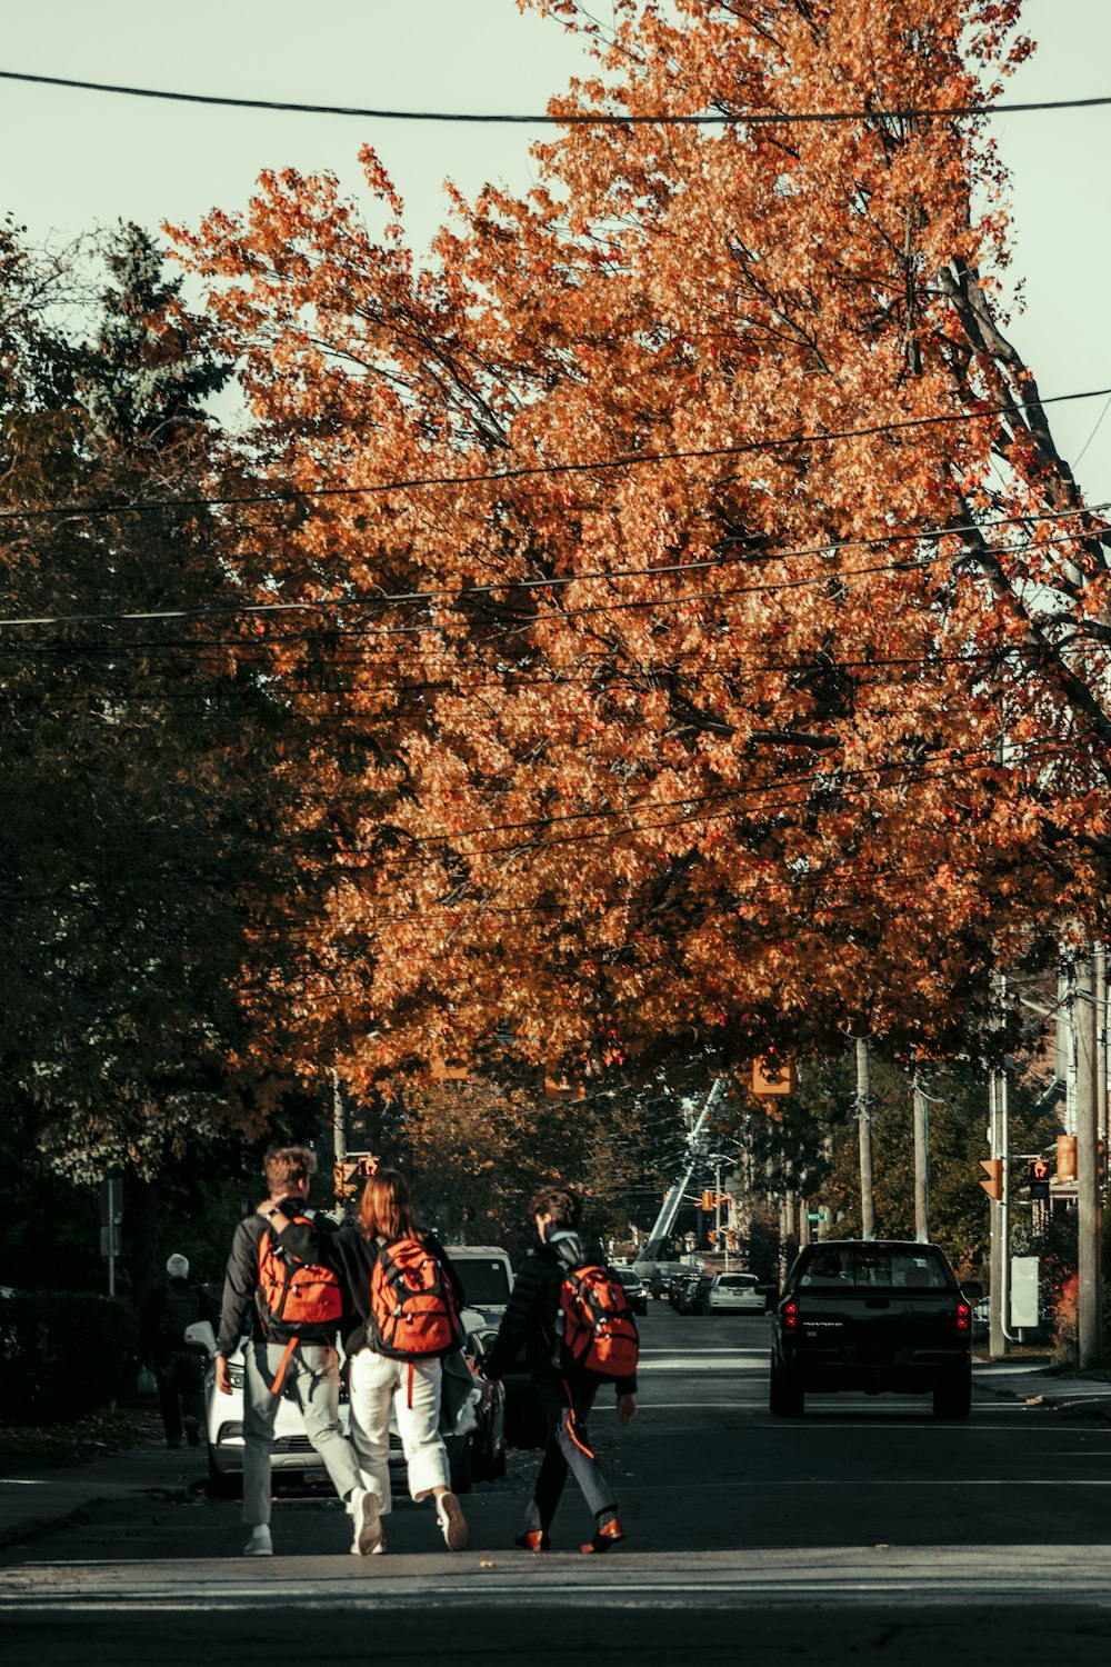
M1076 1352L1083 1369L1103 1360L1103 1200L1096 1092L1096 990L1091 954L1076 962Z

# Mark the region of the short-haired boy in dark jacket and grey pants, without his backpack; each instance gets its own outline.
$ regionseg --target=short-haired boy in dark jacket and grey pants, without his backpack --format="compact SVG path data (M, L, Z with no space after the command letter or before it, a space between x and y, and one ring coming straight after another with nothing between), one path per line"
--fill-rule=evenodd
M217 1340L217 1389L232 1394L228 1357L243 1335L247 1372L243 1384L243 1522L250 1539L247 1557L270 1557L270 1452L283 1384L290 1384L305 1415L305 1434L320 1454L340 1499L355 1520L353 1555L375 1549L376 1510L373 1494L363 1487L355 1452L340 1425L340 1357L331 1324L310 1325L290 1340L265 1320L260 1307L260 1250L270 1235L277 1240L295 1217L310 1220L310 1240L335 1232L326 1215L306 1212L308 1180L316 1170L316 1154L308 1147L281 1147L265 1159L270 1197L235 1229L223 1282L223 1309ZM310 1252L310 1240L303 1249ZM323 1255L320 1257L323 1259Z

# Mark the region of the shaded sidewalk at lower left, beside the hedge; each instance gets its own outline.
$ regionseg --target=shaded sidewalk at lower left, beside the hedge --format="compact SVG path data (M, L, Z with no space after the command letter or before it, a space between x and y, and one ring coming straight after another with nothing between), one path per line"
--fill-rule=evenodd
M205 1475L205 1449L132 1447L68 1469L0 1460L0 1547L60 1527L85 1505L133 1494L183 1495Z

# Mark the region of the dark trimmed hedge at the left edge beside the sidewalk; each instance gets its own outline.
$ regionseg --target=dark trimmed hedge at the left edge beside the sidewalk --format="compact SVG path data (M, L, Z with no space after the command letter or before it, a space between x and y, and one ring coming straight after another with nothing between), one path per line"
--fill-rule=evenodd
M55 1424L107 1405L130 1384L135 1342L135 1315L117 1297L0 1297L0 1420Z

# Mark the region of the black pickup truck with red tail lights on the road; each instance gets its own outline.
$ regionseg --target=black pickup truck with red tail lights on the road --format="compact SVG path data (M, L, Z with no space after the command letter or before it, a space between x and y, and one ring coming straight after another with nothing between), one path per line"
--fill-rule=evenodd
M933 1394L939 1419L966 1419L973 1395L973 1305L938 1245L823 1240L806 1245L773 1317L778 1417L801 1417L806 1394Z

